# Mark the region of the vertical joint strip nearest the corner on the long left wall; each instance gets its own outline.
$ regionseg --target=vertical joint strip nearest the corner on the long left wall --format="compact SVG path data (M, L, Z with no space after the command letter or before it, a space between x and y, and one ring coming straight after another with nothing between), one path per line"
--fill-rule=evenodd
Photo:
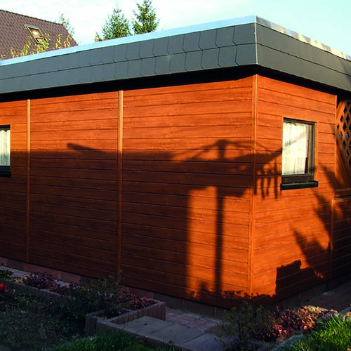
M117 277L121 272L122 240L122 157L123 157L123 91L118 92L117 129Z

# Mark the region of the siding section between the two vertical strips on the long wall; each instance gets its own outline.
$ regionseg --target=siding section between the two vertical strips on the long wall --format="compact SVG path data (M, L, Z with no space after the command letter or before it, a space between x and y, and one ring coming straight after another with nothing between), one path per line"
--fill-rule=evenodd
M31 263L116 272L117 96L32 100Z

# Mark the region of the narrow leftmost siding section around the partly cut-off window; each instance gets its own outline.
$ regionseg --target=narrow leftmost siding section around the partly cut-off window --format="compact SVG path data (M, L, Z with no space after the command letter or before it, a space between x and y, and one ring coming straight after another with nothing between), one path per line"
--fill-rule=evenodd
M27 102L1 103L0 125L11 125L13 175L0 177L0 256L26 260Z

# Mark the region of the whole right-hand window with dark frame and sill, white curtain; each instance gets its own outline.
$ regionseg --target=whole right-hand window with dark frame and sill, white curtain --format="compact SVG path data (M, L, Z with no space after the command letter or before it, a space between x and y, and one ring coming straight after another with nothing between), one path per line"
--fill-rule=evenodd
M284 119L282 190L317 187L314 180L314 124Z

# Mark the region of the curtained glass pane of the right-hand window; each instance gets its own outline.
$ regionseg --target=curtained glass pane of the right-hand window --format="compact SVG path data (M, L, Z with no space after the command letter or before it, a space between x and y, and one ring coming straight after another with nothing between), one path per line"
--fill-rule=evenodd
M284 121L282 174L308 173L310 124Z

